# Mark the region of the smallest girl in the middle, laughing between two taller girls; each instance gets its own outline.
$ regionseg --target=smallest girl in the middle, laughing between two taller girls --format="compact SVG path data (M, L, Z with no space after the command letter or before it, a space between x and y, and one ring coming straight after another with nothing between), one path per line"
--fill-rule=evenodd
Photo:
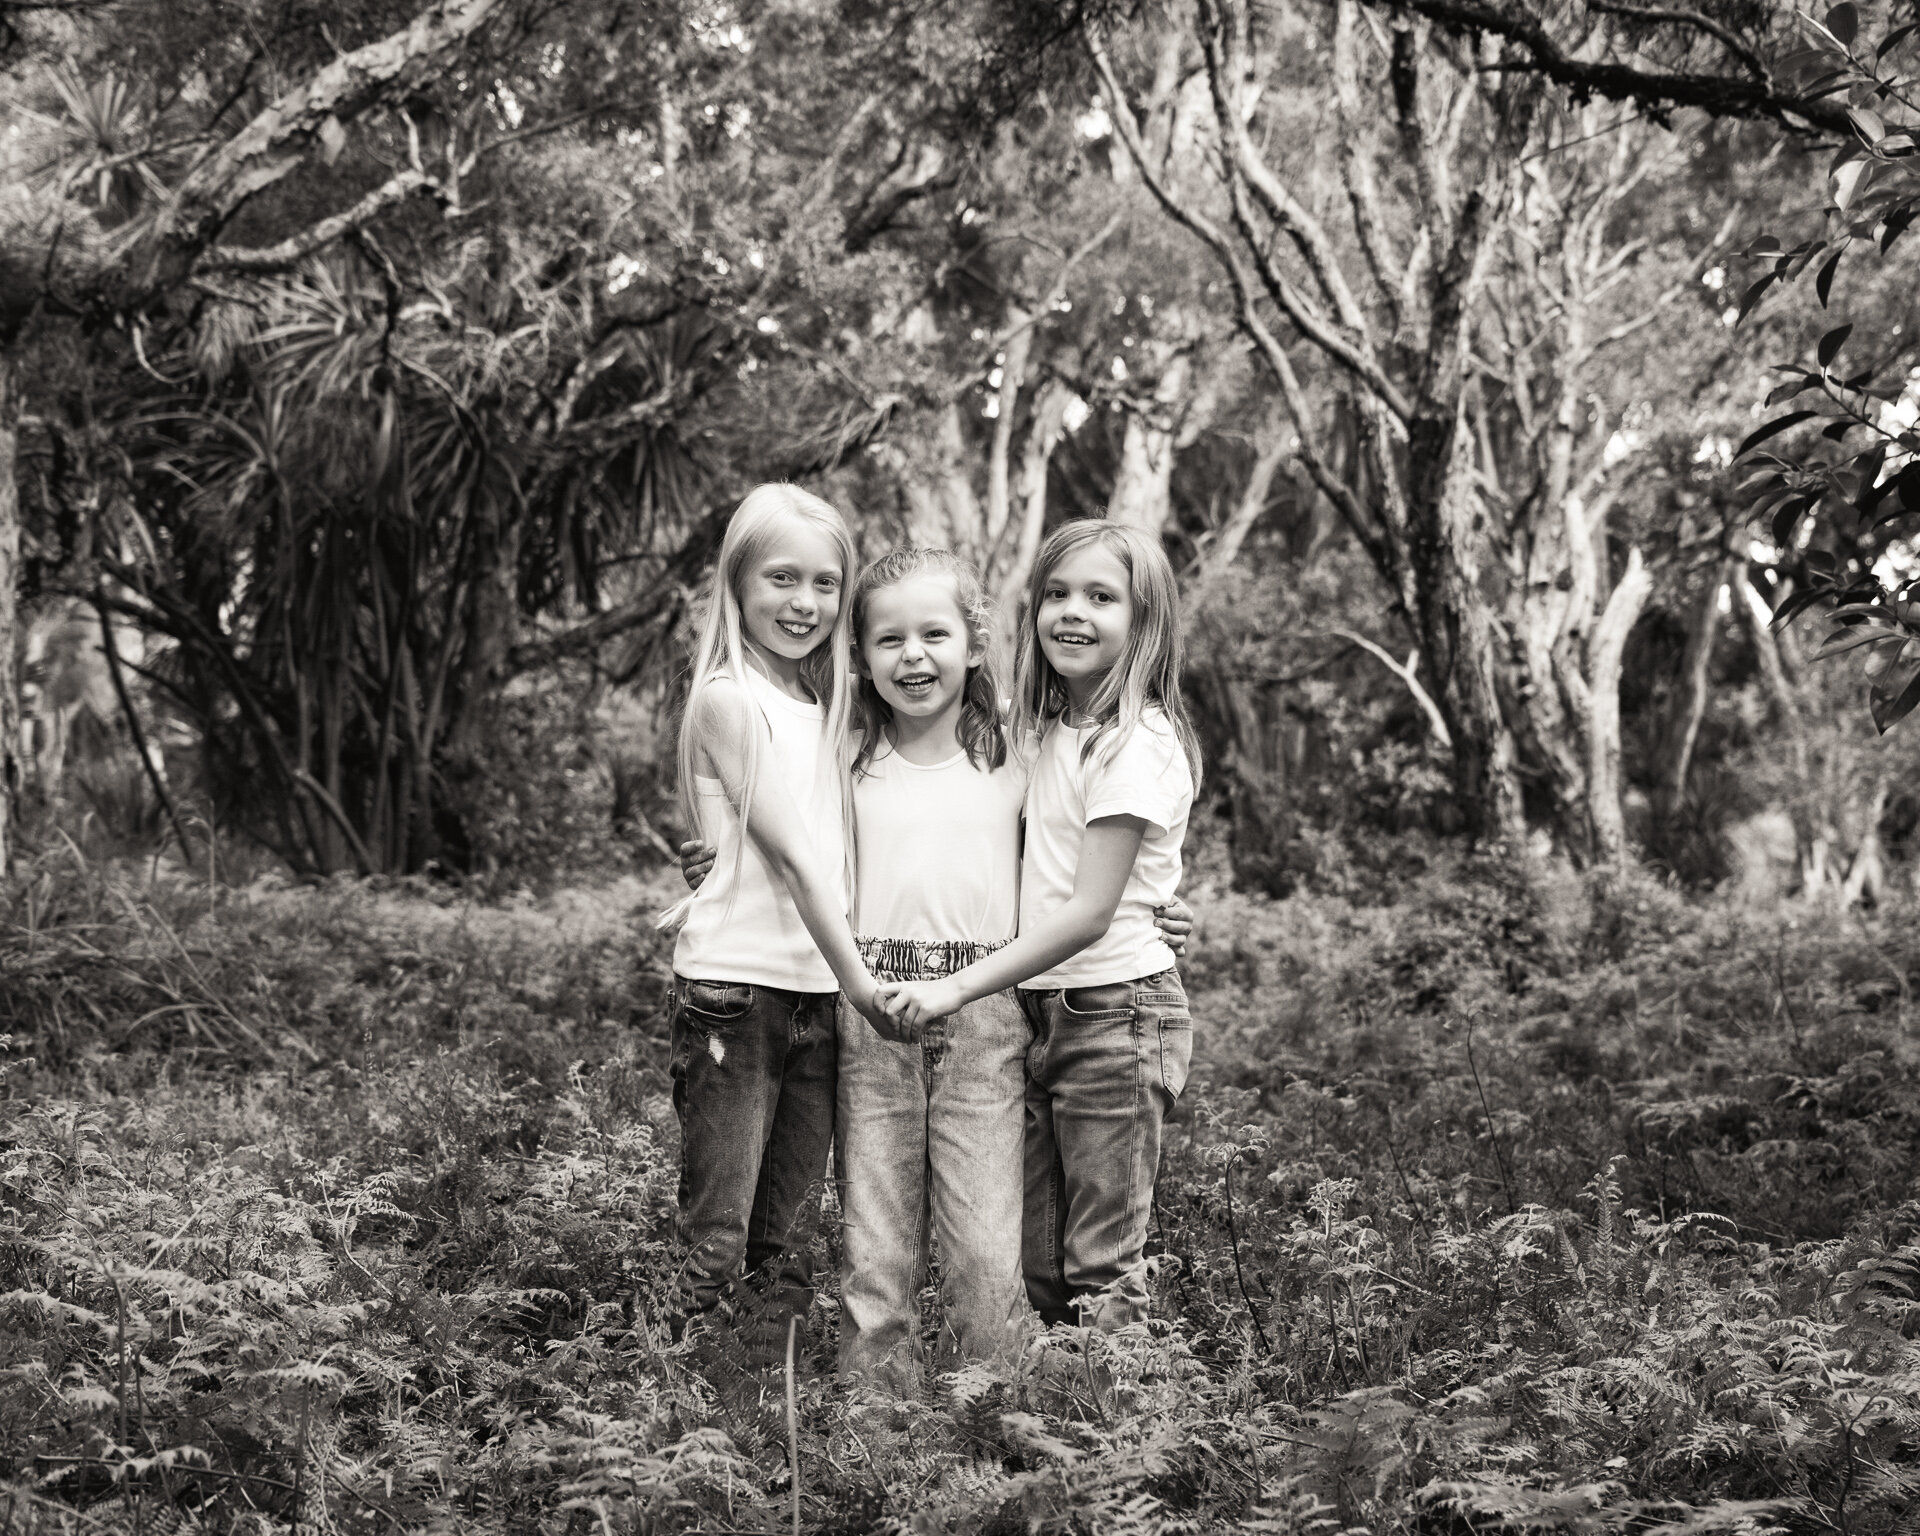
M1027 762L1008 749L979 572L902 549L852 593L860 956L881 981L950 975L1014 937ZM929 1031L841 1029L841 1369L916 1377L927 1231L947 1334L1006 1352L1020 1315L1027 1020L1010 991Z

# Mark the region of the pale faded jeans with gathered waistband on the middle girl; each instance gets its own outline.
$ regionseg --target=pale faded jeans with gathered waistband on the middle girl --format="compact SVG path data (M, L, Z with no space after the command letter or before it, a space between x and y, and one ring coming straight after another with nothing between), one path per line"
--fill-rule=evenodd
M862 939L881 979L948 975L985 945ZM1008 993L899 1044L847 1012L839 1054L843 1375L920 1379L927 1238L939 1244L943 1354L1002 1357L1021 1313L1020 1167L1027 1020Z

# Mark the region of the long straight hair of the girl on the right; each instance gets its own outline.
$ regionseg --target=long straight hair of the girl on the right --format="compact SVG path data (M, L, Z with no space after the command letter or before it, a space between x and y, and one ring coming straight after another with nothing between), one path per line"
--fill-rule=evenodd
M1079 518L1052 532L1033 561L1027 582L1027 618L1020 630L1020 662L1014 676L1014 728L1025 739L1039 739L1069 705L1066 678L1054 672L1039 645L1041 597L1054 568L1075 549L1098 543L1127 568L1127 595L1133 601L1133 622L1127 628L1127 649L1100 680L1087 714L1094 732L1081 747L1081 756L1114 751L1140 724L1150 705L1158 705L1173 728L1200 789L1200 739L1187 718L1181 697L1181 599L1160 540L1123 522Z

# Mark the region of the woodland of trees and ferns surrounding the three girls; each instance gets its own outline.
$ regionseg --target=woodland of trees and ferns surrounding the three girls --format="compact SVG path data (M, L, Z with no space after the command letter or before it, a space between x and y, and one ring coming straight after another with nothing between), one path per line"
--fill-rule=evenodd
M0 0L8 1528L1920 1530L1914 21ZM653 1323L768 478L1187 597L1164 1315L914 1402Z

